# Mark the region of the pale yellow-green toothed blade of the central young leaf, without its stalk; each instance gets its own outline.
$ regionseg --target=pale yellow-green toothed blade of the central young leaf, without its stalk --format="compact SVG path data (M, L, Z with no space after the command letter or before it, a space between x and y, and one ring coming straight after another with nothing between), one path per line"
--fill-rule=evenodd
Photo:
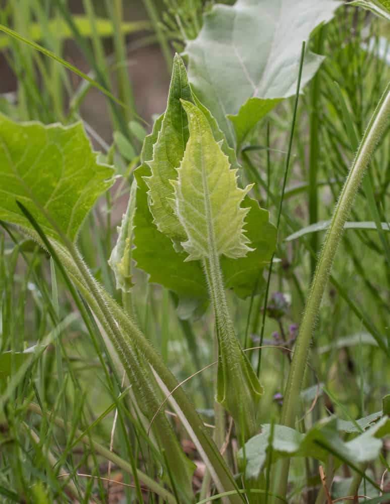
M215 142L204 114L196 105L182 100L187 112L190 139L173 180L176 214L187 234L182 245L186 261L211 257L214 252L238 258L248 251L249 239L243 234L244 218L249 208L240 204L249 192L237 186L237 170Z

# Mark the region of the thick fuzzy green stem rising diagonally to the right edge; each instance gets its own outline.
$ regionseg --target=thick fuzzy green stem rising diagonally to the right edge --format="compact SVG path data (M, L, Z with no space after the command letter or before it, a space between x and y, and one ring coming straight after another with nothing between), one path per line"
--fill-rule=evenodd
M390 83L387 85L356 153L351 170L345 181L339 201L329 226L303 312L297 337L290 374L286 384L281 424L294 427L299 394L302 386L311 338L318 318L318 312L330 274L331 265L342 238L344 224L351 210L354 198L364 172L375 151L375 147L390 117ZM388 349L387 349L388 351ZM289 461L282 462L282 473L278 482L278 494L286 495Z

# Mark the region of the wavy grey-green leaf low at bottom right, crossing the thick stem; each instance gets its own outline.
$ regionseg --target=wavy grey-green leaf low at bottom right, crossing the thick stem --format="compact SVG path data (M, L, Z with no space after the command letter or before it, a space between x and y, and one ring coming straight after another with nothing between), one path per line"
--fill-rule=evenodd
M329 453L341 462L358 465L375 460L382 449L381 438L390 433L390 420L382 417L353 439L344 441L340 436L340 420L336 417L320 421L303 434L284 425L274 425L272 461L280 458L311 457L327 463ZM240 464L245 465L245 477L257 479L270 452L271 425L262 425L261 433L245 444L238 452ZM245 464L244 464L245 454Z

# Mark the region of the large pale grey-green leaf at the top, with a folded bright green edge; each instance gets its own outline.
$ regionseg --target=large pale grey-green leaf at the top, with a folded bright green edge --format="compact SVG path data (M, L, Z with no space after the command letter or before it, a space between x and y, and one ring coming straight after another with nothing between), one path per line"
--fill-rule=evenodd
M217 4L204 15L198 37L186 45L190 82L230 145L234 127L227 115L238 114L233 120L241 143L247 133L245 118L253 114L254 123L272 105L263 100L295 94L302 42L329 21L339 5L334 0L238 0L232 7ZM302 87L322 59L306 54Z

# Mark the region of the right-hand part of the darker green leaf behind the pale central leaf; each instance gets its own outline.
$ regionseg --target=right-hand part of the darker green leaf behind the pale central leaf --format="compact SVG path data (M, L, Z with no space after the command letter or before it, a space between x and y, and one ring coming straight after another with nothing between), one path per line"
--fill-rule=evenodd
M262 276L259 272L269 263L276 246L276 227L269 222L269 212L259 207L249 196L244 198L244 207L250 208L245 217L245 234L254 250L245 257L220 258L225 285L240 297L250 296L256 287L260 289Z

